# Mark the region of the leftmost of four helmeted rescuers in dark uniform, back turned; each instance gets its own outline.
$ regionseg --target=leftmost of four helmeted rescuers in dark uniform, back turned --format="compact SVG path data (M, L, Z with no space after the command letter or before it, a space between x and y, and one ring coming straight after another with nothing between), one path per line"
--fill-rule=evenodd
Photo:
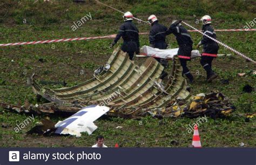
M134 52L139 54L139 30L132 23L133 15L131 12L124 13L124 21L120 26L116 38L113 40L111 46L113 47L118 40L122 37L124 42L121 50L129 54L130 60L133 60Z

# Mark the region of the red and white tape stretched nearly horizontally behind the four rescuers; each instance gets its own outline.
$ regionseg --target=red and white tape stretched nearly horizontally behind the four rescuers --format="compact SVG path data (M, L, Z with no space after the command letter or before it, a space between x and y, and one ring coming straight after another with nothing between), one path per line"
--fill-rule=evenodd
M197 32L197 30L188 30L190 32ZM219 29L214 31L256 31L256 29ZM140 35L148 35L148 32L139 33ZM99 37L81 37L81 38L68 38L68 39L51 39L51 40L39 40L32 42L19 42L19 43L8 43L0 44L0 46L15 46L15 45L33 45L33 44L46 44L46 43L59 43L59 42L70 42L75 40L90 40L90 39L103 39L103 38L115 38L116 35L99 36Z

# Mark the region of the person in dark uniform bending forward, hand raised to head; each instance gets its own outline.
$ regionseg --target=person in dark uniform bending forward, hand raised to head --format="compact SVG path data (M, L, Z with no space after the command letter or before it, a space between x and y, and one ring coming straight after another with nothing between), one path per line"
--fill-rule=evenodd
M178 58L180 64L183 67L183 74L190 80L190 83L193 82L193 75L190 73L190 70L187 67L187 61L191 60L191 51L192 51L192 39L188 31L181 25L182 20L174 20L167 30L167 35L173 33L176 36L177 43L179 45Z

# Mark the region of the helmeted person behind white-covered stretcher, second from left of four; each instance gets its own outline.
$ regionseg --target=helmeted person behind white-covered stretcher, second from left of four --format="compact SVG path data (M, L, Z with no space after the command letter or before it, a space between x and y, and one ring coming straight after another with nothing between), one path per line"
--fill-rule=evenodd
M149 16L147 21L151 24L149 42L150 47L158 49L166 49L166 30L167 28L164 25L158 23L158 19L155 15ZM168 66L168 61L166 59L155 58L161 65L165 68ZM164 79L168 74L163 71L160 75L160 79Z

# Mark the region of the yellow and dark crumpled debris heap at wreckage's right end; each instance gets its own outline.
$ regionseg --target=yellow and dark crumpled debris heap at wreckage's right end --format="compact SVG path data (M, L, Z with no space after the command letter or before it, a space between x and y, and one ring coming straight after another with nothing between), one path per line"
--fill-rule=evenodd
M150 114L154 118L177 118L178 116L197 118L204 115L217 118L228 116L234 110L234 106L225 95L214 91L208 94L200 93L190 102L177 98L176 102L170 102L169 107L153 109L144 115Z

